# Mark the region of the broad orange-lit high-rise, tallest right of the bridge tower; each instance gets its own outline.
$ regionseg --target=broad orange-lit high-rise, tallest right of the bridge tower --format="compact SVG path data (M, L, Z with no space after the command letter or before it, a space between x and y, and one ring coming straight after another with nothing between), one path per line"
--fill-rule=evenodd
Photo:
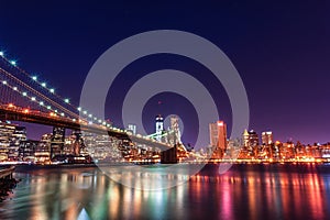
M223 121L217 121L209 124L210 144L221 150L227 148L227 124Z

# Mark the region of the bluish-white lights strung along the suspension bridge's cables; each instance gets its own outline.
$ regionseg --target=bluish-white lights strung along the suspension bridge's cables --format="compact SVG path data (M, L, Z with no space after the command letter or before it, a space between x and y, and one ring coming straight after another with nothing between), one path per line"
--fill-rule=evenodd
M12 59L12 61L11 61L11 59L8 59L8 58L6 57L3 51L0 51L0 56L1 56L7 63L9 63L12 67L16 68L20 73L22 73L22 74L24 74L25 76L28 76L29 78L31 78L32 81L34 81L35 84L40 85L42 88L46 89L50 94L52 94L53 96L55 96L55 97L58 98L59 100L63 100L64 103L70 106L70 107L74 108L74 109L76 109L78 112L82 112L82 114L86 116L87 119L89 120L89 121L88 121L89 124L92 124L92 121L96 121L96 122L98 122L98 123L100 123L100 124L102 124L102 125L105 125L105 127L107 127L107 128L110 128L110 127L111 127L109 123L107 123L107 121L103 121L103 120L101 120L101 119L98 119L98 118L95 117L92 113L89 113L88 110L86 110L86 109L84 109L84 108L81 108L81 107L76 108L73 103L70 103L70 99L69 99L69 98L63 98L63 97L61 97L58 94L55 92L55 89L54 89L54 88L47 87L47 84L46 84L45 81L38 80L38 78L37 78L36 75L31 75L31 74L29 74L28 72L25 72L24 69L20 68L20 67L18 66L18 62L16 62L16 61L14 61L14 59ZM8 81L3 80L3 81L2 81L2 85L8 86L8 87L11 88L12 90L15 90L15 91L18 91L18 92L21 92L21 95L22 95L23 97L26 97L26 98L30 99L31 101L38 102L38 105L40 105L41 107L44 107L44 108L46 108L47 110L53 110L51 106L44 105L44 101L42 101L42 100L38 101L38 100L36 100L36 97L28 96L28 92L26 92L26 91L19 91L19 90L18 90L18 87L14 87L14 86L9 85ZM55 101L54 101L54 102L55 102ZM55 102L55 103L56 103L56 102ZM59 106L61 106L61 105L59 105ZM69 110L68 110L68 111L69 111ZM54 112L55 112L55 113L58 113L58 110L54 109ZM75 113L73 112L73 114L75 114ZM56 116L56 114L55 114L55 116ZM65 117L65 113L62 112L59 116ZM77 116L78 116L78 114L77 114ZM78 118L79 118L79 116L78 116ZM91 120L91 121L90 121L90 120ZM76 121L76 119L73 119L73 121ZM120 129L117 129L117 128L112 128L112 129L113 129L113 130L121 131Z

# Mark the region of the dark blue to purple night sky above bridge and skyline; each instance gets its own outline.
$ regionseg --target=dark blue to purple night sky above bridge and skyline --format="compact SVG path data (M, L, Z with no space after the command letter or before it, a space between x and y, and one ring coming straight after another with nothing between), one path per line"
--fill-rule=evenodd
M280 141L324 143L330 141L329 11L327 1L4 0L0 3L0 50L78 105L90 67L113 44L152 30L191 32L219 46L237 67L249 97L250 129L272 130ZM118 96L107 100L107 117L120 125L124 92L134 80L164 67L202 81L231 128L224 89L212 86L210 73L198 63L169 55L144 57L123 69L112 88L119 90ZM128 77L132 72L134 76ZM185 118L184 142L195 141L196 112L184 97L153 97L143 114L147 132L154 132L156 113ZM31 125L28 132L38 139L50 130Z

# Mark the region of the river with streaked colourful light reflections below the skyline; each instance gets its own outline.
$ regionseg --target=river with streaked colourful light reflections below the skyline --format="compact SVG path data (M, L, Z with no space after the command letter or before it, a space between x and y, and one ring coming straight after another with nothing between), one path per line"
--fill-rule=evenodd
M330 219L330 165L134 167L18 168L0 219Z

